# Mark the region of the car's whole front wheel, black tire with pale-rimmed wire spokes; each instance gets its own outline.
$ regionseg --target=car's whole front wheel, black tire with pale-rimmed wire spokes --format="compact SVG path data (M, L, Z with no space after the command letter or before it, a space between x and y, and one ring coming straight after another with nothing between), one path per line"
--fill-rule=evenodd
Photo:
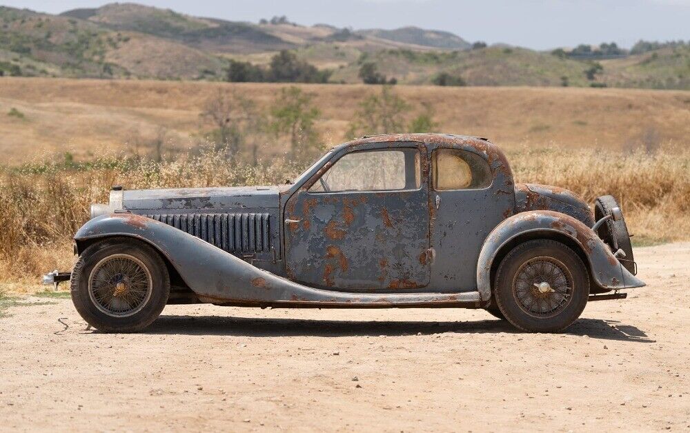
M117 265L124 271L118 272ZM107 272L115 276L108 278ZM101 291L96 293L97 287ZM115 292L110 295L112 288ZM165 308L170 276L161 256L146 243L110 238L81 253L72 270L71 293L77 312L93 328L102 332L137 332L153 323ZM109 295L110 301L104 301ZM135 306L128 310L124 305L130 307L130 301Z

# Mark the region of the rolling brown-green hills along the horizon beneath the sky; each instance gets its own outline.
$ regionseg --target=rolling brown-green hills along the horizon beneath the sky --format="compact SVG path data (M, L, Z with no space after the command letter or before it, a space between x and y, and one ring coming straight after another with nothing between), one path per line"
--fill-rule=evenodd
M450 32L350 30L284 20L193 17L135 3L59 15L0 7L0 74L28 77L223 81L230 59L266 65L279 50L359 83L373 62L398 83L690 88L690 46L581 60L506 45L471 49Z

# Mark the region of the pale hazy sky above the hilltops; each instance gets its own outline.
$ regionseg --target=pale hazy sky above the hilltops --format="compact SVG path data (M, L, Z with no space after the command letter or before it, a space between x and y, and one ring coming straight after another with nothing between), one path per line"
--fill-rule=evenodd
M107 1L0 0L5 6L57 13ZM638 39L690 39L690 0L139 0L136 3L236 21L286 15L290 21L338 27L418 26L469 41L536 49Z

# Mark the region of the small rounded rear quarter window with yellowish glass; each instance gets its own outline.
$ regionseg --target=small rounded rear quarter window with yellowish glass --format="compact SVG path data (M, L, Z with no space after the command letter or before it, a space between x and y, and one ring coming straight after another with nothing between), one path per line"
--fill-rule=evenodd
M482 157L459 149L437 149L432 157L433 187L441 190L480 190L491 185L491 168Z

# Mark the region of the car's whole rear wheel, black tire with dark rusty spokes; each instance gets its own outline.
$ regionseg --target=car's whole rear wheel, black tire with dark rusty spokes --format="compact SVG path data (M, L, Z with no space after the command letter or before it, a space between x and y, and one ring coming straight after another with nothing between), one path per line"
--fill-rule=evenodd
M515 328L562 332L584 310L589 274L578 254L566 245L535 239L517 245L504 257L493 291L498 308Z

